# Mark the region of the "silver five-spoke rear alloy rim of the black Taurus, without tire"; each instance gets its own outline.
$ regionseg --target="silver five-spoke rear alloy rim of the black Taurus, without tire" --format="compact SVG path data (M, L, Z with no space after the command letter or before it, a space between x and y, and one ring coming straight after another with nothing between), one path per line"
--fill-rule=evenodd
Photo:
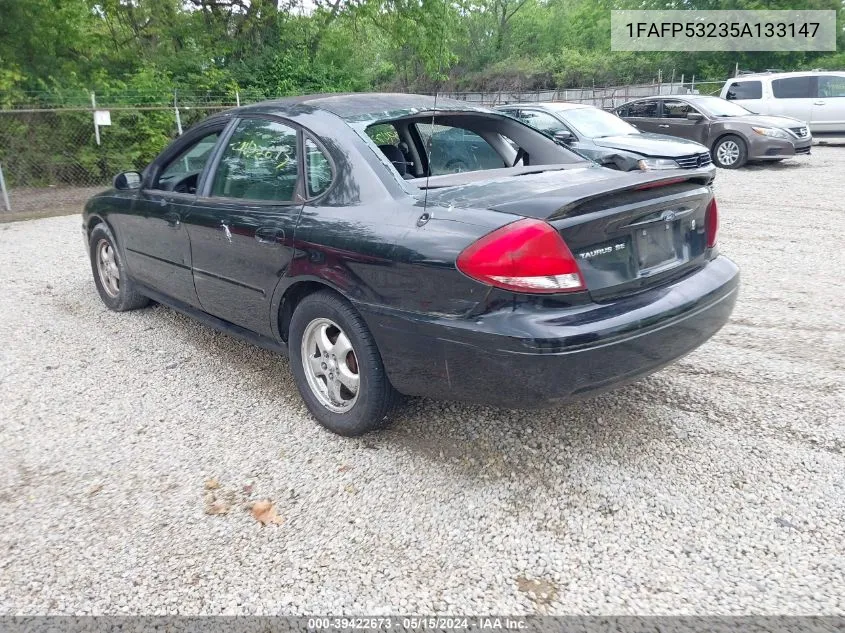
M352 342L334 321L314 319L302 335L302 368L314 396L334 413L358 400L361 378Z

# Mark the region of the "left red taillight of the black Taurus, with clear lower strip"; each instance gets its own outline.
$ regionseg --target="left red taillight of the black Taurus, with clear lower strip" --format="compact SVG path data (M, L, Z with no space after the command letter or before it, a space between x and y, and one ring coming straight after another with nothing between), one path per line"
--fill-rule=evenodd
M585 288L566 242L541 220L518 220L488 233L458 256L457 265L473 279L515 292L574 292Z

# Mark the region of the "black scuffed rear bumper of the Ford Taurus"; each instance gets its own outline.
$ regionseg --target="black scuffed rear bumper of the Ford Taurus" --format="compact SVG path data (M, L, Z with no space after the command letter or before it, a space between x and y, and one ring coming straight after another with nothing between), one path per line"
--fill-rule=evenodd
M578 308L535 304L469 319L358 306L402 393L529 408L648 375L727 322L739 271L717 257L670 285Z

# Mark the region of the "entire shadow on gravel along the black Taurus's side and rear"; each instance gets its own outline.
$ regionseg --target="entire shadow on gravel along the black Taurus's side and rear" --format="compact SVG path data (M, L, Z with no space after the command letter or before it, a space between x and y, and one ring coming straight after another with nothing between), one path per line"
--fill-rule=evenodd
M110 313L109 313L110 314ZM116 318L138 318L142 331L156 339L179 341L161 370L197 364L218 376L236 375L268 400L299 402L288 359L218 332L166 306ZM128 325L128 324L127 324ZM149 341L138 353L151 353ZM149 346L149 349L147 349ZM181 348L181 349L180 349ZM427 398L405 398L386 430L351 442L361 448L403 451L412 458L459 468L472 479L547 477L550 460L612 460L625 463L662 440L671 418L655 405L661 383L654 377L594 398L549 409L498 409ZM303 424L317 425L302 406ZM321 434L322 435L322 434Z

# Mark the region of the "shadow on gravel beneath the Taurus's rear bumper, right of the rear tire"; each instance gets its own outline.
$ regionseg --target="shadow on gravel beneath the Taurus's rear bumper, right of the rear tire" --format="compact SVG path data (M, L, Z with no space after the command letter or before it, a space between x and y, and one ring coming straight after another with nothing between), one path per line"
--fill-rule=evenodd
M516 477L541 482L552 464L626 464L653 454L672 435L667 409L643 396L653 378L571 404L497 409L409 398L393 425L368 436L375 447L456 468L472 480ZM649 391L659 390L659 382Z

